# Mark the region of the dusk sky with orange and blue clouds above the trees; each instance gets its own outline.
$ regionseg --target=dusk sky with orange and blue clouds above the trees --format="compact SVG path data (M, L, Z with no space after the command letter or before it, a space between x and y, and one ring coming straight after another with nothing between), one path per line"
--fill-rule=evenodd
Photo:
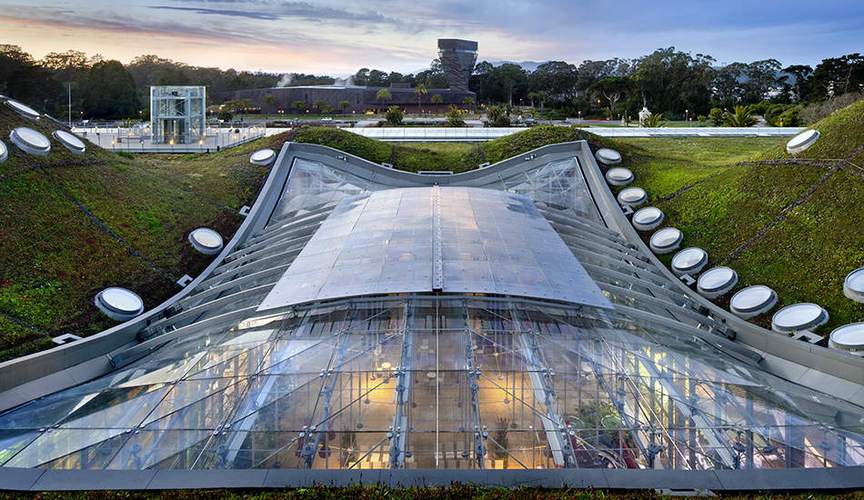
M158 55L223 70L353 75L427 68L438 38L479 61L633 59L674 46L716 65L810 65L864 52L861 0L0 0L0 44L124 65Z

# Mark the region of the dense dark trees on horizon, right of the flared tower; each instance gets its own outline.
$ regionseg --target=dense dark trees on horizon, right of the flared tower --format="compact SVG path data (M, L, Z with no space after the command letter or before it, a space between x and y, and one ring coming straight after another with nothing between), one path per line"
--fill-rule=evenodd
M533 72L519 65L482 62L470 85L481 103L548 105L553 114L566 116L636 117L647 107L668 119L697 119L712 109L742 105L778 114L864 92L864 56L824 59L815 68L784 67L776 59L718 67L709 55L668 47L636 59L585 61L578 66L550 61ZM790 122L797 114L789 115L783 125L795 125Z

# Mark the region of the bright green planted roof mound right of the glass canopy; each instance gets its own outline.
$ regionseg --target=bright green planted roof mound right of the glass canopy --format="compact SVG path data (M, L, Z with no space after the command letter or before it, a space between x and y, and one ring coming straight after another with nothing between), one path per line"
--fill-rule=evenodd
M780 308L812 302L829 312L829 323L817 329L827 336L864 321L864 305L843 295L846 275L864 267L864 102L812 128L821 133L819 141L798 155L786 153L789 138L618 142L631 146L621 166L636 176L632 185L648 192L648 205L663 210L665 226L683 232L681 247L706 250L706 269L728 265L738 272L738 285L718 305L728 309L738 290L767 285L779 304L751 321L770 327ZM747 144L764 149L756 155L734 150ZM721 160L710 156L724 149ZM661 260L669 265L671 254Z

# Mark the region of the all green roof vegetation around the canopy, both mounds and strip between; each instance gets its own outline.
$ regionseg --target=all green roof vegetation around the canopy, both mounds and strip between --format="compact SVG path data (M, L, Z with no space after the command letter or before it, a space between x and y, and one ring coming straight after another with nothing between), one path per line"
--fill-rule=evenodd
M0 106L0 132L17 126L55 129ZM463 172L583 138L615 148L633 185L665 212L664 226L681 229L684 246L708 251L709 266L738 272L733 293L757 284L779 293L779 305L753 321L769 326L779 307L814 302L829 311L818 330L828 335L864 321L864 305L842 294L845 275L864 266L864 102L814 127L822 137L799 155L785 152L784 138L613 140L549 125L478 144L387 144L301 127L209 155L116 155L88 144L79 156L52 141L50 155L33 156L9 145L0 164L0 361L49 348L52 336L116 325L93 304L106 286L135 291L148 308L176 294L176 279L212 259L191 248L189 232L207 226L230 239L242 223L237 211L254 203L268 173L249 155L287 140L414 172ZM728 307L731 295L718 305Z

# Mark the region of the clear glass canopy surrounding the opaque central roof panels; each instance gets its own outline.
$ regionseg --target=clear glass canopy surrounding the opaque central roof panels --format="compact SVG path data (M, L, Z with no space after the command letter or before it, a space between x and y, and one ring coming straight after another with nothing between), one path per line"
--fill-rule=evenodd
M0 415L0 464L864 465L861 408L768 375L753 353L731 348L722 325L602 225L575 157L487 189L532 199L613 308L444 289L357 290L263 308L345 208L340 200L387 189L339 163L296 159L266 229L116 355L115 372ZM449 193L460 207L454 220L464 206L508 199L442 189L442 202Z

